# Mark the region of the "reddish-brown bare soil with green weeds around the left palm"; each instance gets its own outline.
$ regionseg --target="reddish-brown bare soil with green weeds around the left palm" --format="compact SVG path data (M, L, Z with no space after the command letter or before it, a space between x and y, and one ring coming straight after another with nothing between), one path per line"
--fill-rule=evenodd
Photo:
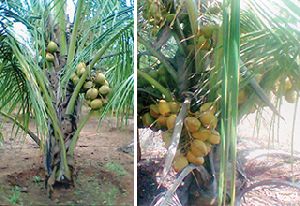
M116 128L107 118L97 130L93 118L81 132L76 148L75 187L61 188L52 199L44 188L41 150L26 136L13 139L4 124L0 146L0 205L133 205L133 122ZM121 148L121 149L120 149Z

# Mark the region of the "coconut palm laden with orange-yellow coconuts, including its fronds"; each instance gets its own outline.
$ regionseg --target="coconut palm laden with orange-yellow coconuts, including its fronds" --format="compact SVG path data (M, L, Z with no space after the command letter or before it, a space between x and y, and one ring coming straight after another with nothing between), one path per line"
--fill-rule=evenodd
M178 205L174 193L192 172L198 194L189 205L234 205L239 120L265 106L281 118L270 95L298 101L299 6L145 0L138 7L139 127L163 131L163 176L172 165L179 172L154 202Z

